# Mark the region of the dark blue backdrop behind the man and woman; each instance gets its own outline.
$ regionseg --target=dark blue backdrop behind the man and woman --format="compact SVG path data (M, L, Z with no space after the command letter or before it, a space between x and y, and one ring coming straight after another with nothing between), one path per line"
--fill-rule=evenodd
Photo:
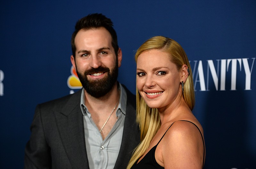
M95 12L114 22L118 80L133 93L136 49L156 35L179 42L194 77L205 169L256 168L255 0L1 1L1 168L23 168L36 105L77 90L70 38L76 21Z

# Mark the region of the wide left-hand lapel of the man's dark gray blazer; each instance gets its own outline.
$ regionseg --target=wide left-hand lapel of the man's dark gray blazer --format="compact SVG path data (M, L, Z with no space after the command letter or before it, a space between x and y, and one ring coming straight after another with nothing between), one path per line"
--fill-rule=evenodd
M81 91L70 97L61 112L55 112L60 138L73 168L89 168L80 108Z

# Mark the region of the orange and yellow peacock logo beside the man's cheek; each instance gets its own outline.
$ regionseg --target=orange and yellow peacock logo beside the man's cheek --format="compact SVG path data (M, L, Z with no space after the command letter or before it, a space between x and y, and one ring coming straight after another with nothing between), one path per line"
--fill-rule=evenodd
M73 66L71 66L70 73L71 73L71 75L68 77L68 81L67 81L68 87L70 89L82 88L82 84L79 81L79 78L76 73L76 69ZM70 90L70 94L72 94L72 93L74 93L74 91Z

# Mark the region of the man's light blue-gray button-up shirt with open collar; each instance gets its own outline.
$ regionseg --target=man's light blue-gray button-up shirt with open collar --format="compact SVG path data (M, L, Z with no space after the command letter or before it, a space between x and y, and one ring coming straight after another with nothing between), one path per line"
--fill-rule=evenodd
M121 99L116 110L117 121L104 140L84 104L84 89L82 91L80 105L84 116L85 146L90 169L113 169L116 164L122 142L127 101L125 89L120 83L118 88Z

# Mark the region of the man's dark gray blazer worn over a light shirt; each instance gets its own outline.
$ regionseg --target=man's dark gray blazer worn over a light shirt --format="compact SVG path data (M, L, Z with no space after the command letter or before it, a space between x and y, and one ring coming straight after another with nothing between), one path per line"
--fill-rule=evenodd
M135 123L136 98L125 86L127 107L121 148L114 169L126 168L140 142ZM82 89L36 107L30 140L25 148L25 169L87 169L84 122L80 108Z

